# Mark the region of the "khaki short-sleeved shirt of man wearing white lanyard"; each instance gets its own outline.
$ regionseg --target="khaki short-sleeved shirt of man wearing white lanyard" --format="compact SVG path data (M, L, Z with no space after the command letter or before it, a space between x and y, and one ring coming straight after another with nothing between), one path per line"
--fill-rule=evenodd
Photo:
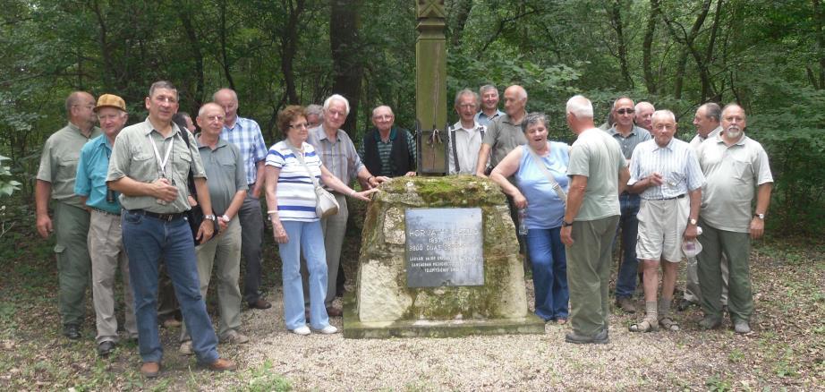
M183 136L189 138L190 148L186 148ZM156 157L155 150L149 138L155 141L157 152L161 155ZM174 143L172 153L166 161L166 166L162 172L160 160L166 155L168 143ZM200 161L200 154L197 152L198 144L189 132L181 132L177 125L172 123L172 133L164 138L160 132L155 131L149 118L143 123L134 124L123 128L123 131L115 139L115 147L112 149L112 158L109 160L109 173L106 175L106 182L119 180L128 176L132 180L140 183L154 183L161 177L166 177L177 187L177 199L164 204L157 202L152 196L126 196L120 195L120 204L123 209L146 209L157 214L174 214L190 209L189 189L186 186L187 176L191 167L195 177L206 178L206 171Z

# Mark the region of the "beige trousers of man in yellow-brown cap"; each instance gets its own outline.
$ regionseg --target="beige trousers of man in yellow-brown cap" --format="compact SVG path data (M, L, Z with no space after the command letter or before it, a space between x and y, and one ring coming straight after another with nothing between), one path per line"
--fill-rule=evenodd
M120 268L123 279L123 302L126 313L126 333L138 337L134 318L132 285L129 284L129 259L123 249L119 215L91 211L89 219L89 256L91 256L91 292L95 305L98 343L117 342L115 317L115 275Z

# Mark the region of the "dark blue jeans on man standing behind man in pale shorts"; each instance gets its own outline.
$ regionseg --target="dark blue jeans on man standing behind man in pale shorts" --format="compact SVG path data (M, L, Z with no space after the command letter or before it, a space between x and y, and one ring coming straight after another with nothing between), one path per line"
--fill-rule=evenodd
M639 234L639 205L642 203L639 195L622 193L619 195L619 205L622 209L622 216L619 217L619 225L616 229L618 237L619 230L622 231L622 264L619 266L616 277L616 298L630 297L636 292L636 279L639 270L639 260L636 259L636 237ZM616 239L613 240L614 246Z

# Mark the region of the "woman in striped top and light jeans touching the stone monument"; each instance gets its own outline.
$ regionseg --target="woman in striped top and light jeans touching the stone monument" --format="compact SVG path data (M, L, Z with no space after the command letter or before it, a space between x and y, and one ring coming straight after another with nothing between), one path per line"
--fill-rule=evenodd
M270 147L267 154L267 213L283 265L286 328L298 335L310 334L303 311L303 285L299 272L303 252L310 271L311 327L322 334L334 334L337 328L329 325L324 307L327 253L320 220L315 213L318 200L310 173L336 192L361 200L369 201L367 196L378 189L355 192L329 173L315 149L306 142L309 135L306 116L303 107L294 105L278 113L277 125L286 139Z

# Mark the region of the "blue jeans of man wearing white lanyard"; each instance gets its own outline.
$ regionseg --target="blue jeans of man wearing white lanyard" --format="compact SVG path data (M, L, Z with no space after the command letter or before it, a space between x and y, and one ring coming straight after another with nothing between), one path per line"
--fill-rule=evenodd
M192 351L202 363L217 361L217 337L200 296L195 245L185 219L171 222L123 211L123 246L129 256L129 277L138 320L138 345L143 362L160 362L163 348L157 334L157 265L166 260L183 322L192 337Z

